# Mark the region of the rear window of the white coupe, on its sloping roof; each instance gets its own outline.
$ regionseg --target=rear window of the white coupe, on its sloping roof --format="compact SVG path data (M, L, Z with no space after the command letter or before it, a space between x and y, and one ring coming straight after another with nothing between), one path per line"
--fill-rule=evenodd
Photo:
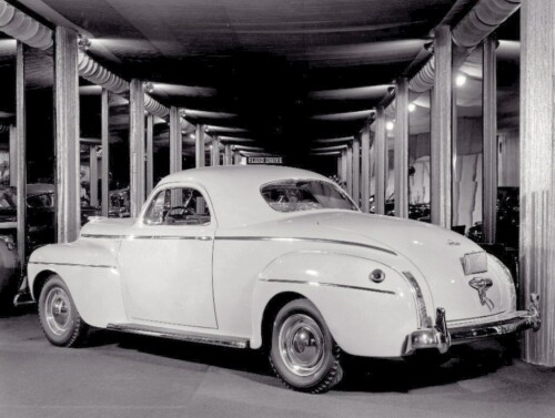
M284 180L261 188L262 196L278 212L323 208L359 211L340 187L320 180Z

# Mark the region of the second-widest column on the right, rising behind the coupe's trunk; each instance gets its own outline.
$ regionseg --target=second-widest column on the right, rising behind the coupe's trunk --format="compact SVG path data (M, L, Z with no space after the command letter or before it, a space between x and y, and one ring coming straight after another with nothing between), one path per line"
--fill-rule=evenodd
M431 212L432 223L451 228L452 187L452 65L451 29L435 31L435 82L431 110Z

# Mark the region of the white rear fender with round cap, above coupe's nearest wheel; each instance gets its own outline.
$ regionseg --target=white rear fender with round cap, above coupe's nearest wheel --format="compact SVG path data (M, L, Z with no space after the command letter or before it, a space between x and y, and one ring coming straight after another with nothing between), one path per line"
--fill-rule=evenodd
M376 268L385 273L382 283L369 277ZM278 295L291 292L317 307L336 343L352 355L401 356L406 336L417 327L411 287L396 269L347 254L296 252L273 261L255 284L254 348L262 344L266 306Z

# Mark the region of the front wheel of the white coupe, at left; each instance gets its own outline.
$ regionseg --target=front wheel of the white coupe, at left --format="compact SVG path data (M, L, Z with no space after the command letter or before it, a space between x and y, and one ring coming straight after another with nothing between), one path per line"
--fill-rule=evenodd
M73 347L87 335L83 322L65 283L58 275L47 279L39 297L39 318L48 340L54 346Z

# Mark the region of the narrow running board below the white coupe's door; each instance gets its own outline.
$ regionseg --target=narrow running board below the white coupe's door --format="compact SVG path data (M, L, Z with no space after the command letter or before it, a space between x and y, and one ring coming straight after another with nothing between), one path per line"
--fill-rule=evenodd
M208 335L200 333L189 333L184 330L175 330L160 327L151 327L148 325L138 324L108 324L108 329L118 330L121 333L148 335L152 337L162 337L170 339L179 339L181 341L209 344L212 346L249 348L249 339L225 337L218 335Z

